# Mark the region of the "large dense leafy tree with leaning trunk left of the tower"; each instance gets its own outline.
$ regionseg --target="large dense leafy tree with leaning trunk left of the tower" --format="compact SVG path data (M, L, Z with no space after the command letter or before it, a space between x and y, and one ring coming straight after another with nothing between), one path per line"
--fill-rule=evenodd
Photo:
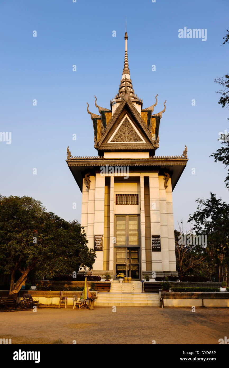
M31 270L53 277L92 269L95 258L78 221L46 212L30 197L0 197L0 273L11 275L10 294L18 293Z

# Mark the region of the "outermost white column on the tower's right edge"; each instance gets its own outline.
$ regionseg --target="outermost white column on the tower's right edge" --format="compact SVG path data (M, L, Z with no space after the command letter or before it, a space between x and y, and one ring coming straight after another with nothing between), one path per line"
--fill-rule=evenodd
M167 204L167 228L168 228L168 248L169 248L169 271L176 271L171 178L169 178L167 185L168 188L166 189L166 204Z

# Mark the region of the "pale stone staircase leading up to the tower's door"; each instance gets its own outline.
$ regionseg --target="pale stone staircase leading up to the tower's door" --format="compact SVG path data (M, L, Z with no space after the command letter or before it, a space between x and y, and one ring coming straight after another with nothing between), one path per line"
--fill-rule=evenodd
M97 296L95 306L160 307L159 294L143 293L140 281L132 283L113 281L110 293L98 293Z

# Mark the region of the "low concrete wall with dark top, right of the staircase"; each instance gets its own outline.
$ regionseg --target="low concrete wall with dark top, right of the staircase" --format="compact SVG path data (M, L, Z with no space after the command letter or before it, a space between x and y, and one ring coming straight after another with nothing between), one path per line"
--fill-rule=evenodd
M164 307L229 307L229 293L162 292Z

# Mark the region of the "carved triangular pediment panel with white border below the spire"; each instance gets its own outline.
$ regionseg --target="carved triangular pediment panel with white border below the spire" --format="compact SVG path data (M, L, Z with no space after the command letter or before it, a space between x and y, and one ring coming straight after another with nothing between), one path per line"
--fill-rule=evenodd
M140 132L125 114L107 143L146 143Z

